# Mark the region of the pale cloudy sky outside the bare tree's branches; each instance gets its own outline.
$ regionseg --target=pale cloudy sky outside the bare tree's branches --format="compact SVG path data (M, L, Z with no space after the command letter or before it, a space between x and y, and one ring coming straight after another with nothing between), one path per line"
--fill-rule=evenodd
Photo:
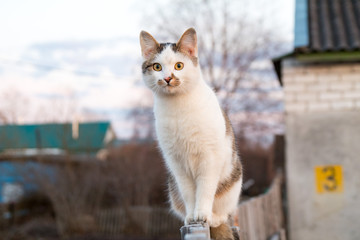
M107 119L131 134L125 110L148 104L138 36L153 3L162 1L0 0L0 110L16 105L20 123ZM291 42L293 0L266 7Z

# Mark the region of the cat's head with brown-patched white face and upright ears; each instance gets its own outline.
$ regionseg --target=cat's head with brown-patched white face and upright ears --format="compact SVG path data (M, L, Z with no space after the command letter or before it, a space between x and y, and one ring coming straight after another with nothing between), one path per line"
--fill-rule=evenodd
M140 33L145 84L160 95L190 91L200 80L196 31L185 31L177 43L158 43L149 33Z

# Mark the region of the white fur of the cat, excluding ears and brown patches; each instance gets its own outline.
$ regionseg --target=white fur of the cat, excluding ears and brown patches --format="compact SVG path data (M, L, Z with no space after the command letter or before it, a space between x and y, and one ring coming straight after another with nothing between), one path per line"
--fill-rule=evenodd
M241 189L240 178L215 200L218 183L229 177L233 168L232 139L226 135L220 105L200 67L189 57L168 47L153 61L163 69L144 74L144 81L154 92L156 133L185 202L185 223L206 220L216 227L235 210ZM184 63L180 71L174 69L177 62ZM180 79L179 86L157 84L171 74Z

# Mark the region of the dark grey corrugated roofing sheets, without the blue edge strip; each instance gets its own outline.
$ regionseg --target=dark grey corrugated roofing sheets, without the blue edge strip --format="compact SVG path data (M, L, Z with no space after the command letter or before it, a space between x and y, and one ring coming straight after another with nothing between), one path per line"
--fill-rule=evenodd
M298 51L359 50L360 1L308 0L308 26L309 45Z

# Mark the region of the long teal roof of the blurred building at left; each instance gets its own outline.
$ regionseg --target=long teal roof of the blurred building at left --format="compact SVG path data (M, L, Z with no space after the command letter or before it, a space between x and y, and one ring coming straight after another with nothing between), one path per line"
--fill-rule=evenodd
M109 122L80 123L78 138L72 124L0 126L0 152L8 149L58 148L69 152L96 152L105 147Z

